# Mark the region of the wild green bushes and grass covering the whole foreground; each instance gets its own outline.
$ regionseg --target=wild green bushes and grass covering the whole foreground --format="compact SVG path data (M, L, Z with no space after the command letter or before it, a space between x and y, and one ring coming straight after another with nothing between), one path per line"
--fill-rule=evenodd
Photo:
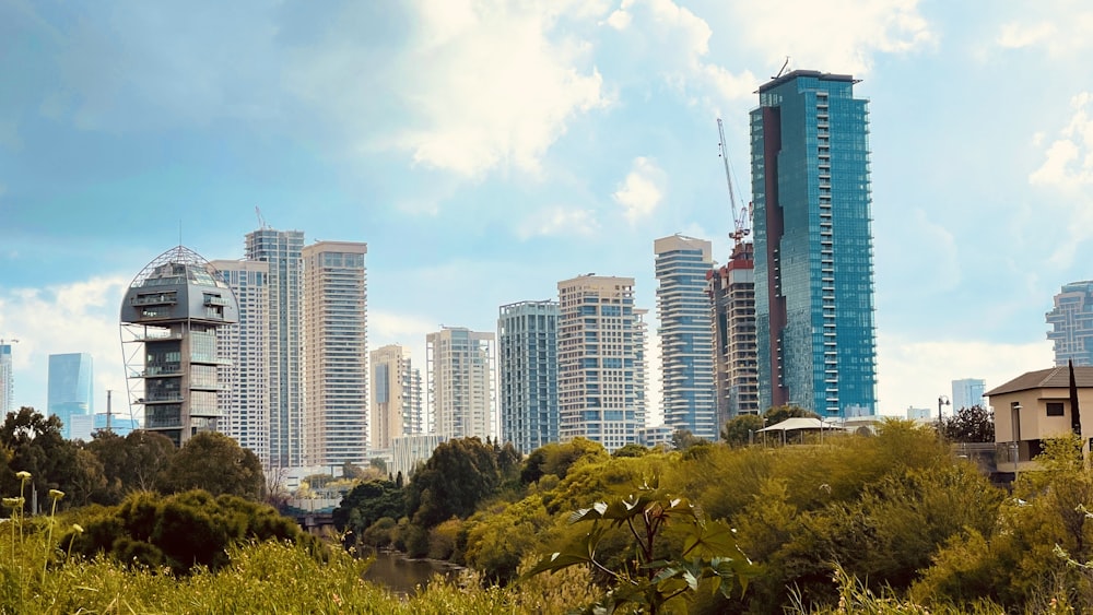
M349 549L315 543L252 499L202 492L129 488L110 507L66 510L70 498L49 487L46 502L60 506L31 518L32 485L61 483L13 465L2 431L0 446L11 472L0 476L11 478L11 520L0 525L9 611L1093 610L1093 473L1077 439L1050 442L1043 471L1023 472L1011 493L935 428L900 421L872 437L785 447L690 440L609 456L575 440L522 461L512 447L454 440L413 481L373 475L346 494L336 518ZM179 534L201 539L185 545ZM361 580L365 545L469 570L399 598Z

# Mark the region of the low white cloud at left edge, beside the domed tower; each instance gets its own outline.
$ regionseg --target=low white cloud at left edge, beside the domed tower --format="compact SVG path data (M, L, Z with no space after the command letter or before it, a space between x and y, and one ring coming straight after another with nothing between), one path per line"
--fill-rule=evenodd
M46 411L50 354L89 353L94 360L95 410L128 412L118 310L130 280L94 277L44 289L0 289L0 332L20 343L12 351L15 405Z

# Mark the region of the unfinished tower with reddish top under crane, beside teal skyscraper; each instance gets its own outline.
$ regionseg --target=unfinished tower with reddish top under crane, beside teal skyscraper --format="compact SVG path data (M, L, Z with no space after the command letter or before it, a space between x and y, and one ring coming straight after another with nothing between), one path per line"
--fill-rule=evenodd
M760 413L754 255L753 244L739 243L728 264L708 273L718 425L741 414Z

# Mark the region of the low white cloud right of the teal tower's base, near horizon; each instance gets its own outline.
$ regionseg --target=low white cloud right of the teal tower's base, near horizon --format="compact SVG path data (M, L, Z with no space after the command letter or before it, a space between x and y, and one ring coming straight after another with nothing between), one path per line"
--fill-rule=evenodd
M992 343L879 332L877 345L880 412L888 415L906 416L908 406L937 410L938 397L952 394L953 380L982 378L989 390L1055 365L1046 340Z

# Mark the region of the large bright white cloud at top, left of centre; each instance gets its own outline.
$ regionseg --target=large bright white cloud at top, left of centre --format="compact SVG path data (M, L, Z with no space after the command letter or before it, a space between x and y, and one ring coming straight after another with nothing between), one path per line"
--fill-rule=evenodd
M589 46L551 37L565 5L420 2L421 35L403 61L413 79L397 91L414 117L392 143L463 176L538 173L569 120L608 105L599 72L579 68Z

